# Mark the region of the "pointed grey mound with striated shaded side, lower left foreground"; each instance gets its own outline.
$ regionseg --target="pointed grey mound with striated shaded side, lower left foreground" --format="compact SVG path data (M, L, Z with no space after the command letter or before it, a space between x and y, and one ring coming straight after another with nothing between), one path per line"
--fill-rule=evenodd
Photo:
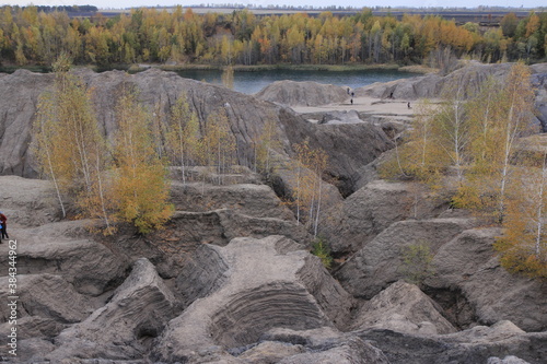
M131 274L110 301L55 339L57 347L45 355L60 362L70 357L142 357L174 315L175 297L146 258L137 260Z

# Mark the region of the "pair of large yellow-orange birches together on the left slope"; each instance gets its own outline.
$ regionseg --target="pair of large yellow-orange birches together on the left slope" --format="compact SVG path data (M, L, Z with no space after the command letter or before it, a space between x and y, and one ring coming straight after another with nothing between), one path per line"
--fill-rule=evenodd
M126 91L116 109L115 142L107 142L98 130L91 91L68 70L59 69L54 91L42 95L34 125L38 167L53 180L63 215L65 201L72 200L82 218L103 220L108 235L117 221L130 222L141 233L161 226L172 210L150 115Z

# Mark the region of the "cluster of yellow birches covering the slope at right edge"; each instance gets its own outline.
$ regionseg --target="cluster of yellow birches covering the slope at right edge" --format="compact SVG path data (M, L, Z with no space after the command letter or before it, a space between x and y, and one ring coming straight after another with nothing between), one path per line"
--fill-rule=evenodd
M415 178L502 226L494 244L513 272L547 277L547 150L528 145L534 90L516 63L505 80L477 89L456 81L440 104L423 103L408 134L381 173Z

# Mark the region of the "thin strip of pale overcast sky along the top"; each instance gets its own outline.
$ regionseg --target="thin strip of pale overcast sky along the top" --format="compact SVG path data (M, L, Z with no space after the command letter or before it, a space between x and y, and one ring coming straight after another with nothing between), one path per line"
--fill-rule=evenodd
M439 0L0 0L0 4L10 5L84 5L91 4L100 9L121 9L131 7L170 7L173 4L181 4L183 7L200 3L242 3L242 4L256 4L256 5L268 5L268 4L289 4L289 5L314 5L314 7L328 7L331 4L342 5L342 7L409 7L409 8L421 8L421 7L444 7L444 8L476 8L478 5L499 5L499 7L513 7L520 8L537 8L547 7L546 0L451 0L451 1L439 1Z

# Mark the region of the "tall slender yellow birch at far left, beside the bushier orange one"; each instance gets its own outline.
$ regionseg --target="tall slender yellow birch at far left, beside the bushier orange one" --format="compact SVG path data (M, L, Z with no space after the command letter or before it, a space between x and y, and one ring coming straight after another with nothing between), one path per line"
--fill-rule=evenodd
M34 126L39 168L50 178L66 215L72 200L84 218L102 219L112 233L112 207L104 174L107 153L91 107L91 94L68 72L62 57L57 62L55 86L40 96Z

